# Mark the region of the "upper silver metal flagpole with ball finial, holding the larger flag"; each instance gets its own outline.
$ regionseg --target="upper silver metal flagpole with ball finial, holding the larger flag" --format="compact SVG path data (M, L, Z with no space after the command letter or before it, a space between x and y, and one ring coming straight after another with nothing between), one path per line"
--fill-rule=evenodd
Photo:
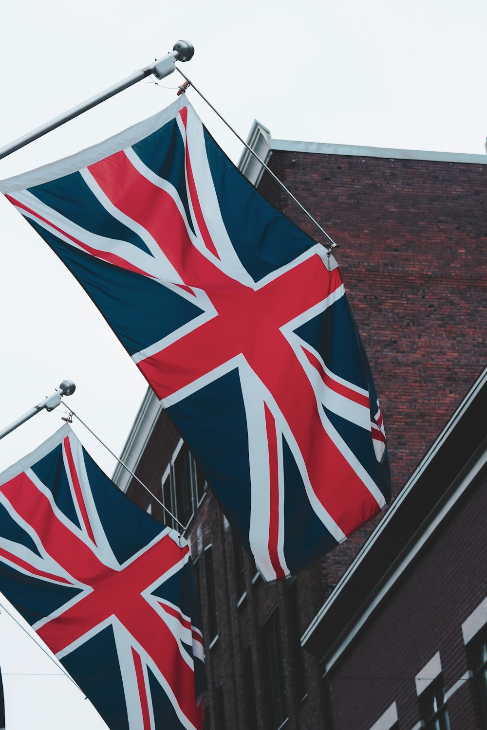
M100 93L97 93L95 96L91 96L91 99L87 99L81 104L77 104L76 107L72 107L72 109L64 112L64 114L60 114L58 117L55 117L49 122L42 124L40 127L37 127L37 129L33 129L31 132L28 132L28 134L24 134L23 137L14 139L14 141L10 142L9 145L1 147L0 160L7 157L7 155L11 155L12 152L20 150L21 147L25 147L30 144L30 142L34 142L34 139L39 139L39 137L43 137L43 135L47 134L47 132L60 127L61 124L69 122L69 120L78 117L80 114L83 114L83 112L87 112L88 109L96 107L97 104L101 104L102 101L106 101L120 91L124 91L126 88L133 86L138 81L145 79L147 76L151 76L153 74L156 79L164 79L164 77L169 76L169 74L174 72L175 61L189 61L190 58L193 57L193 53L194 47L189 41L177 41L172 49L172 53L168 53L168 55L158 58L158 60L154 61L153 64L145 66L144 69L138 69L136 72L131 74L131 76L113 84L104 91L100 91Z

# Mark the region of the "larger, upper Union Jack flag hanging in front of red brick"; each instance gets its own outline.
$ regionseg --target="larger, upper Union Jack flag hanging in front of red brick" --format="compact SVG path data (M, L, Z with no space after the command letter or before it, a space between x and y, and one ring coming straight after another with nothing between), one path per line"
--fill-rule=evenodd
M377 394L337 263L187 99L0 189L110 323L266 580L386 504Z

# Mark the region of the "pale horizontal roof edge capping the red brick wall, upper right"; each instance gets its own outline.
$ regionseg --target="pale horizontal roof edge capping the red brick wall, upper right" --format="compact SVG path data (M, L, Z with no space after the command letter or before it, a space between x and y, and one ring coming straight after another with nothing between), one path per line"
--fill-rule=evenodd
M397 150L393 147L361 147L359 145L333 145L328 142L299 142L294 139L270 138L270 149L282 152L304 152L318 155L349 155L352 157L383 157L394 160L426 160L431 162L455 162L487 165L487 155L458 152L432 152L429 150Z

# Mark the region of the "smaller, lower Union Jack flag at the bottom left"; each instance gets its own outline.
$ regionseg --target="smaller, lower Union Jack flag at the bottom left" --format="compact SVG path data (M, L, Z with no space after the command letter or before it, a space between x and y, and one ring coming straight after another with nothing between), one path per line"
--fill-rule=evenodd
M112 730L201 730L188 546L101 472L69 426L0 475L0 590Z

